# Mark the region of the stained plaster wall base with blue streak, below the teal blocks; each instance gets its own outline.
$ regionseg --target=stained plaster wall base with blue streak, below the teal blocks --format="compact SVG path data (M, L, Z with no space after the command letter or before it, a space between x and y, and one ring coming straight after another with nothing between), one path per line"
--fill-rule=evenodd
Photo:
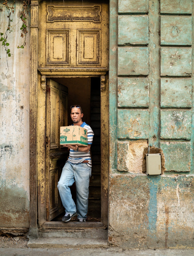
M110 176L109 242L124 248L193 247L192 176Z

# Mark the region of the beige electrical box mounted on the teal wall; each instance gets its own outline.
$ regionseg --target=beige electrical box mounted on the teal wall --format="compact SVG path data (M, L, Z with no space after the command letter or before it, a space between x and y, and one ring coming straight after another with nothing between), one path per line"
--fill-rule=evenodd
M146 174L161 174L161 154L146 154Z

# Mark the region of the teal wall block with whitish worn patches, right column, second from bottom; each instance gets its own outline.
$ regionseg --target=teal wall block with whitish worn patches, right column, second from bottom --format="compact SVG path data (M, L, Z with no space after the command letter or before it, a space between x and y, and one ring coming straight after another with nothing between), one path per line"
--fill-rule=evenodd
M190 110L161 110L162 139L191 139Z

